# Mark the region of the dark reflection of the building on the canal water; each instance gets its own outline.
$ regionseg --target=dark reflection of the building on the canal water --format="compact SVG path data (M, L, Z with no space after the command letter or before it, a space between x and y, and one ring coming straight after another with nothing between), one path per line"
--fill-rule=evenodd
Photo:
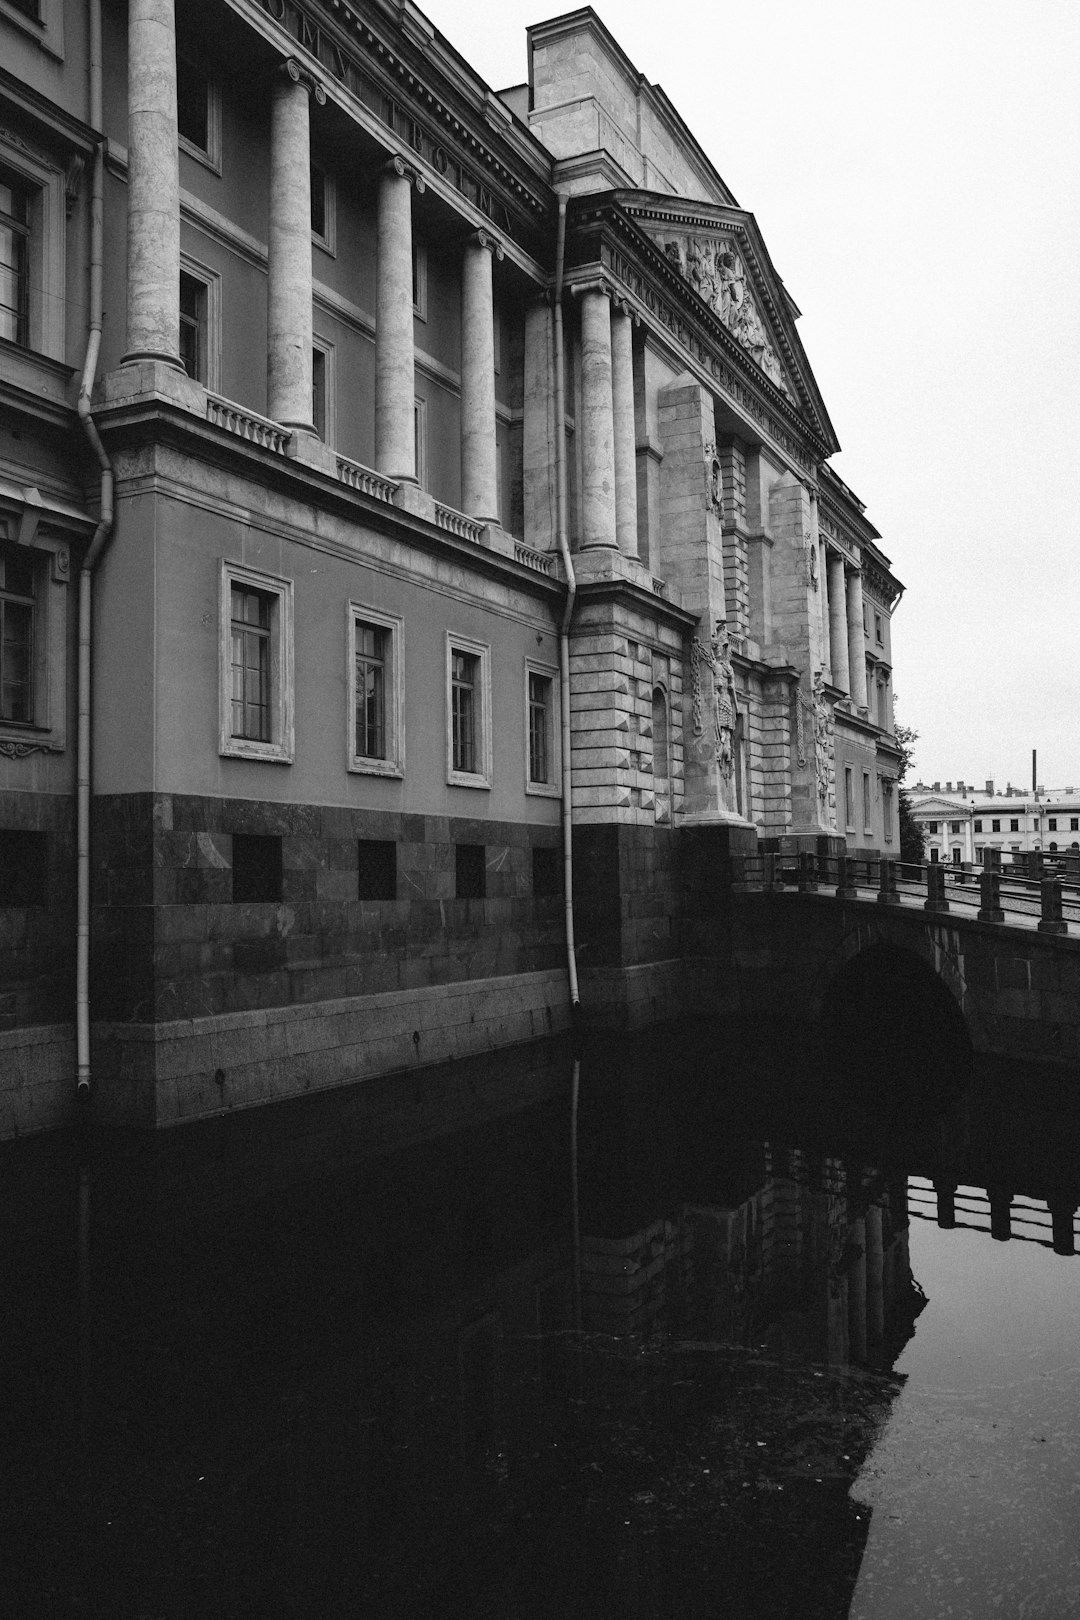
M805 1089L733 1121L670 1053L570 1076L5 1150L10 1612L845 1614L908 1174L967 1128L874 1158L800 1137Z

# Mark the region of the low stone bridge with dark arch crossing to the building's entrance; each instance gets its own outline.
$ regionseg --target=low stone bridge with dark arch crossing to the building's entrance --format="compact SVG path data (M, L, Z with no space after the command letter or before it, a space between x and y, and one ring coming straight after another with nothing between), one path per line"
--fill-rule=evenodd
M1080 1084L1075 855L981 872L730 859L740 1013L816 1032L852 1069L941 1072L978 1055L1074 1069Z

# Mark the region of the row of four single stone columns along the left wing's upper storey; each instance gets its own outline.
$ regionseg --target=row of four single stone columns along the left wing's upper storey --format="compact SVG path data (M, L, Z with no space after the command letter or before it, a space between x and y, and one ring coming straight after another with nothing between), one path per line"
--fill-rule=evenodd
M128 322L125 361L180 368L180 167L173 0L130 0ZM311 269L311 97L317 78L290 58L274 76L267 232L267 415L314 436ZM413 355L413 190L418 172L392 157L379 177L376 264L376 471L416 480ZM461 259L461 504L499 520L491 232ZM633 381L630 381L633 408ZM610 394L607 402L610 415ZM620 452L622 454L622 452ZM631 449L633 457L633 449ZM636 517L635 517L636 530Z

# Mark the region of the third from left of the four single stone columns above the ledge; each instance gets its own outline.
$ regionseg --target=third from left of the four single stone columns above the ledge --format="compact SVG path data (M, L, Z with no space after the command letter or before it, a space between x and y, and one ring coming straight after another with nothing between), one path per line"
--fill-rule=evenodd
M413 178L400 157L379 177L376 261L376 471L410 483L416 483ZM423 190L419 177L416 188Z

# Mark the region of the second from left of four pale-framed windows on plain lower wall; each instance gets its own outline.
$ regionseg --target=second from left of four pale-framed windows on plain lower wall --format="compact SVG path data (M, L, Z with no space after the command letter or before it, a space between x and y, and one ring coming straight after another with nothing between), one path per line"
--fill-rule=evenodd
M402 619L350 603L348 659L348 768L369 776L402 776Z

